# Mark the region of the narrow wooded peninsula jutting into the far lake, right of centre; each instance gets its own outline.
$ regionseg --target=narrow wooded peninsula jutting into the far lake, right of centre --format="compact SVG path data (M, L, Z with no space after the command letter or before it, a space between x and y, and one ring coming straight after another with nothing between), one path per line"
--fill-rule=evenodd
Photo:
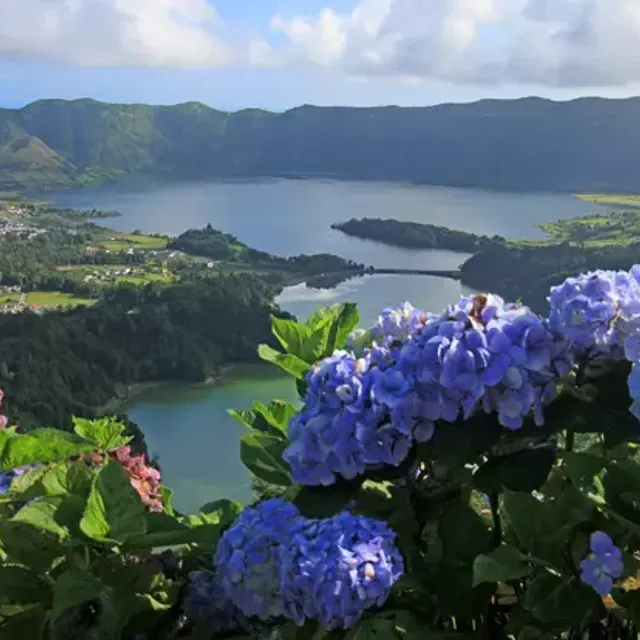
M352 218L347 222L331 225L350 236L375 240L384 244L408 249L447 249L462 253L475 253L505 246L501 236L478 236L475 233L456 231L447 227L419 222L401 222L380 218Z

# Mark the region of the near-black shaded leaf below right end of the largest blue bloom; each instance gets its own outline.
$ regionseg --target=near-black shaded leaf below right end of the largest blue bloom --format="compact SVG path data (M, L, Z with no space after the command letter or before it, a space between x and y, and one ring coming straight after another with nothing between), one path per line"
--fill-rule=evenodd
M473 486L484 493L529 493L547 481L555 459L555 449L546 445L491 458L473 474Z

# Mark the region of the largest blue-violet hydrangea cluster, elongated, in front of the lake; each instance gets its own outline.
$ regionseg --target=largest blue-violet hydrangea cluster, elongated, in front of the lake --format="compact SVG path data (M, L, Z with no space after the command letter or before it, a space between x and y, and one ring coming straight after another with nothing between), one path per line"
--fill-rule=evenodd
M284 459L296 483L329 485L399 466L437 421L497 413L518 429L556 393L572 366L568 341L527 307L498 296L462 298L439 316L385 309L354 351L336 351L307 376L305 406Z

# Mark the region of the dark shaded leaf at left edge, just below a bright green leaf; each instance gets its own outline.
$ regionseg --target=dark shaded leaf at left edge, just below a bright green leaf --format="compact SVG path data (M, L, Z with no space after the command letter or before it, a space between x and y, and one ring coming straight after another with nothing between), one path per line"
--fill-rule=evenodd
M0 540L9 562L22 564L36 573L46 573L65 554L55 535L24 522L0 521Z

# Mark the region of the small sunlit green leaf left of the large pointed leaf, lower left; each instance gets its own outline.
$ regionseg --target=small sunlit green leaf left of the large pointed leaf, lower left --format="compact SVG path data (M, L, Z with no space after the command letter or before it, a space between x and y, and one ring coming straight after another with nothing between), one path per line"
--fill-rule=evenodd
M39 498L22 507L12 521L48 531L59 540L77 538L84 505L82 498L73 495Z

